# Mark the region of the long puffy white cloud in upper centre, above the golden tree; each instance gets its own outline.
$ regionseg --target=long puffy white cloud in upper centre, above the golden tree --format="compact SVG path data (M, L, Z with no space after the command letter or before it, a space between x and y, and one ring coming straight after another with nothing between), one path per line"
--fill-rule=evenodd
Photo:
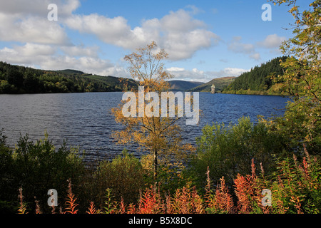
M190 58L196 51L219 41L203 21L193 19L192 13L184 9L171 11L162 19L142 21L141 26L135 28L131 28L122 16L111 19L98 14L73 15L65 23L81 33L94 34L105 43L131 50L156 41L168 52L170 60Z

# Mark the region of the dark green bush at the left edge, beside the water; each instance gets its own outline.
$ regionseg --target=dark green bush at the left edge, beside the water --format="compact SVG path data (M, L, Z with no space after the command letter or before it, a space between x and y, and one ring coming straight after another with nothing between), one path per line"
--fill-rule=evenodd
M29 136L21 137L14 150L0 145L1 200L16 202L19 187L24 192L24 200L33 203L39 200L46 209L48 190L55 189L65 195L67 180L71 178L73 185L81 184L84 174L82 158L78 150L66 147L66 142L58 150L48 139L32 142Z

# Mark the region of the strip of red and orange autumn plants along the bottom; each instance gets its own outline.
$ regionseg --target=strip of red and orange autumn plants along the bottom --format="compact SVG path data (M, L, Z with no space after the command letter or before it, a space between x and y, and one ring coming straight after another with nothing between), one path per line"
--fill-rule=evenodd
M225 177L221 177L216 190L213 190L213 181L210 180L210 170L208 170L205 195L199 195L190 182L178 188L173 195L161 192L161 187L155 184L141 192L137 204L126 204L122 198L121 201L117 201L113 197L113 190L107 189L100 209L96 209L95 204L90 202L87 204L86 212L88 214L320 213L320 165L317 157L310 157L306 152L302 162L298 162L295 156L292 160L278 161L277 172L265 177L255 173L256 168L252 160L251 173L238 174L234 178L234 188L228 187ZM272 192L270 205L263 204L263 189ZM22 189L20 189L20 207L17 207L16 212L30 212L29 205L23 199ZM81 212L77 209L77 200L69 185L64 204L66 212L73 214ZM51 212L54 213L55 209L53 208ZM60 213L63 213L62 209Z

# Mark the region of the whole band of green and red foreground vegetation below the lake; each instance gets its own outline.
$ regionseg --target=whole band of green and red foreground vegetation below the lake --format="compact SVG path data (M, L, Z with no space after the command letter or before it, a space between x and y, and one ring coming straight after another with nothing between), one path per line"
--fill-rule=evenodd
M250 123L244 119L240 122L234 130ZM252 139L245 144L260 139L256 130L250 130ZM241 138L235 143L242 144ZM320 213L321 210L320 159L310 155L305 147L300 154L272 160L275 165L266 170L260 158L239 160L239 167L244 167L238 169L237 175L230 173L218 178L215 167L213 172L210 166L199 172L208 161L200 156L193 157L194 164L180 172L163 166L158 171L158 180L154 180L148 162L126 150L113 160L92 167L83 162L75 148L63 145L56 149L48 138L31 142L28 137L21 137L14 150L6 147L5 142L1 134L1 212ZM223 145L219 140L218 147ZM270 147L264 143L260 146L263 150ZM215 152L203 150L206 152L214 162L215 158L221 161L222 170L232 171L228 162L216 157ZM58 192L57 207L47 204L47 191L52 188ZM262 195L264 189L270 190L270 199Z

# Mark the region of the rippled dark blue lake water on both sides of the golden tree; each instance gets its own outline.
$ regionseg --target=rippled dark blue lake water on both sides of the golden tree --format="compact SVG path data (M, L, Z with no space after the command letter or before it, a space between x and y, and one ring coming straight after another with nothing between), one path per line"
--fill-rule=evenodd
M117 145L111 138L121 125L115 123L111 108L121 103L123 93L58 93L0 95L0 128L5 129L7 142L14 147L20 135L29 133L30 140L44 138L44 132L58 147L78 146L86 157L111 158L121 153L125 146ZM232 95L200 93L199 125L185 125L180 121L185 142L195 144L205 124L236 123L238 118L257 115L270 117L284 113L288 98L267 95ZM140 155L135 146L126 146L129 152Z

